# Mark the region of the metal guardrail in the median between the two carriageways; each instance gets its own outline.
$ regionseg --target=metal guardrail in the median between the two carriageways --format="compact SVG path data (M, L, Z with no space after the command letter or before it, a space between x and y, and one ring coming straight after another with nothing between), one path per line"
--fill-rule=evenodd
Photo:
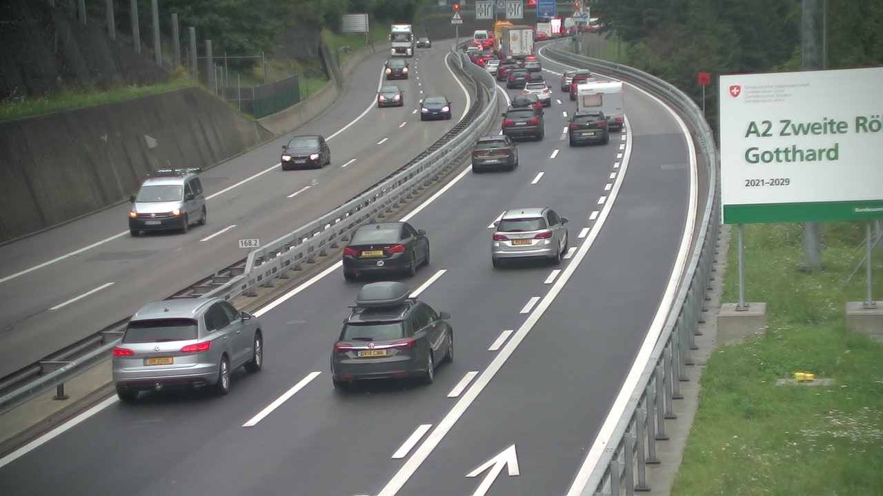
M238 270L238 266L242 264L240 260L233 266L215 273L215 276L209 277L209 282L198 283L191 287L191 289L199 288L199 291L179 291L172 297L230 299L240 295L253 295L253 289L257 286L272 286L276 279L287 277L289 270L299 269L304 262L313 261L316 255L326 254L328 249L336 249L338 243L348 241L351 233L359 226L390 213L393 207L414 198L426 186L441 178L445 171L459 164L479 135L494 121L497 115L498 94L495 91L496 81L487 71L468 63L468 60L464 62L464 55L457 53L456 50L452 50L452 55L457 70L469 76L475 84L476 101L464 119L442 139L426 152L419 154L403 169L399 169L380 184L359 194L343 206L250 252L245 259L242 274L232 274L232 272L240 272ZM57 398L66 397L64 383L108 357L110 349L119 342L117 336L122 334L126 320L128 319L4 378L0 391L9 387L15 389L0 396L0 415L52 387L57 388ZM102 343L100 346L90 349L99 342ZM75 355L79 357L74 357ZM31 380L31 378L35 379Z

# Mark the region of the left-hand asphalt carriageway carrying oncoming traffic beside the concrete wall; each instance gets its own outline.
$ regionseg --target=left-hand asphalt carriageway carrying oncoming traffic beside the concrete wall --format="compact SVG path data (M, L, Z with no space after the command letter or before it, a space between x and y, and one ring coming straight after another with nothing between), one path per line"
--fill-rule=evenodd
M377 109L374 104L385 52L360 64L335 105L296 132L319 133L328 139L332 163L325 169L274 167L287 136L200 174L209 198L205 227L194 226L186 235L132 238L126 220L129 204L125 204L0 246L0 377L242 258L238 238L268 242L280 237L410 161L447 132L466 109L464 88L445 62L448 49L449 43L436 43L433 49L419 50L419 58L411 59L411 78L389 81L404 88L403 108ZM453 101L453 120L420 122L418 101L434 93ZM253 179L239 184L249 177ZM108 241L58 260L102 240ZM34 269L51 260L57 261ZM28 269L33 270L3 281ZM102 289L50 310L97 288Z

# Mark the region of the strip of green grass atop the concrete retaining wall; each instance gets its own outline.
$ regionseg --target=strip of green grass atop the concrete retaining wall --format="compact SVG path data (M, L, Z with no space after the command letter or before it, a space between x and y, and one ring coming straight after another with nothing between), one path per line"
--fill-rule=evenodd
M42 116L62 110L83 109L106 103L142 98L151 94L161 94L180 88L195 86L192 79L178 77L169 82L152 86L119 86L101 91L65 90L56 94L46 94L36 98L10 97L0 101L0 121Z

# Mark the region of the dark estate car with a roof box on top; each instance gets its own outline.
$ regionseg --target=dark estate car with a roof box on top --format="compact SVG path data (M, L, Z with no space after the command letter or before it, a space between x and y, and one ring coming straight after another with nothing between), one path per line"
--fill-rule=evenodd
M331 352L334 387L396 378L431 384L438 364L454 361L450 315L408 293L401 282L373 282L358 292Z

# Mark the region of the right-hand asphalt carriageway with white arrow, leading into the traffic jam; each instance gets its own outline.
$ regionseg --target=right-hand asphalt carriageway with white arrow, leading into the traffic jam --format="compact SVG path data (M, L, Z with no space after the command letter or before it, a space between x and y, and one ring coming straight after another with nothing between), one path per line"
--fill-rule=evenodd
M433 385L336 393L328 356L360 284L334 270L261 316L266 368L236 374L230 395L155 395L133 406L111 399L0 467L0 492L562 494L657 311L687 218L680 128L656 101L626 92L627 139L569 147L562 112L574 106L556 90L562 104L546 110L546 139L519 146L518 169L466 171L411 219L428 232L432 264L405 281L417 288L444 270L420 297L453 316L456 361L442 365ZM578 250L559 267L495 270L488 225L519 206L568 217ZM502 339L506 330L514 332ZM243 426L312 372L320 373ZM468 372L479 373L448 397ZM430 428L403 449L419 425ZM503 469L476 492L486 473L465 475L513 444L519 475ZM396 451L406 453L392 459Z

